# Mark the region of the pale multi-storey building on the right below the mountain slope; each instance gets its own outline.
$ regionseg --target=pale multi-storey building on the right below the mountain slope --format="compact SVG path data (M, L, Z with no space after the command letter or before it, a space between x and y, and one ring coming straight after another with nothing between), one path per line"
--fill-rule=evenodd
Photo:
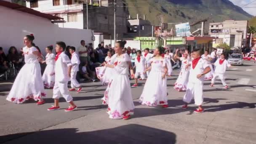
M231 47L245 47L247 43L247 28L248 21L229 19L223 22L210 23L209 35L215 37L216 40L222 39L223 43L226 43L225 41L231 41L231 43L227 43ZM233 37L235 37L235 40L233 40ZM216 43L214 41L213 45ZM235 41L234 45L233 41Z

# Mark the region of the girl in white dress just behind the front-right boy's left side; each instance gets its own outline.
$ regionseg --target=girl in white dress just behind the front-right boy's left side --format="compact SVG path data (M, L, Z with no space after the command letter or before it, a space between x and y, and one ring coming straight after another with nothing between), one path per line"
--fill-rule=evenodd
M189 68L186 68L187 64L189 64L189 54L187 51L184 53L184 57L178 56L178 50L174 55L174 59L178 59L181 61L181 72L179 73L179 77L174 84L174 89L177 91L186 91L187 83L189 81Z

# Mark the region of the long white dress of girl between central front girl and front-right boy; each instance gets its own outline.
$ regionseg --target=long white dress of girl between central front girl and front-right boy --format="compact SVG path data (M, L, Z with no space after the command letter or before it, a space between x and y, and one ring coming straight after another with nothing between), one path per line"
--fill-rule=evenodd
M167 99L167 77L162 79L164 67L167 66L165 59L150 59L151 71L145 83L139 102L147 106L155 107L157 105L168 104Z

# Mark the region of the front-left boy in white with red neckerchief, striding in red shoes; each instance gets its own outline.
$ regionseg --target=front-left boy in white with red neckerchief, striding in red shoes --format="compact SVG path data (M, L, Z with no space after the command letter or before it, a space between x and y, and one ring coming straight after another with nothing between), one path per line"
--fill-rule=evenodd
M67 83L69 82L72 64L69 57L65 54L64 50L66 44L64 42L56 43L56 57L55 57L55 83L53 87L53 99L54 106L47 110L60 109L59 98L62 95L64 99L70 104L70 106L65 109L65 112L70 112L77 109L74 104L72 96L69 95L67 89Z

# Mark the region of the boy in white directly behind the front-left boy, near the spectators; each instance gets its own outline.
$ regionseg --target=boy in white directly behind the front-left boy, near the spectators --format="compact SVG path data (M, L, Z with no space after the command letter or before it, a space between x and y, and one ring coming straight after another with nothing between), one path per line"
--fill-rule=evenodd
M72 69L71 69L71 88L69 89L69 91L75 91L75 88L78 88L77 93L79 93L82 90L81 85L77 82L77 72L79 71L79 64L80 64L80 60L79 60L79 56L78 54L75 52L75 47L71 46L69 48L69 53L71 54L71 64L72 64Z

